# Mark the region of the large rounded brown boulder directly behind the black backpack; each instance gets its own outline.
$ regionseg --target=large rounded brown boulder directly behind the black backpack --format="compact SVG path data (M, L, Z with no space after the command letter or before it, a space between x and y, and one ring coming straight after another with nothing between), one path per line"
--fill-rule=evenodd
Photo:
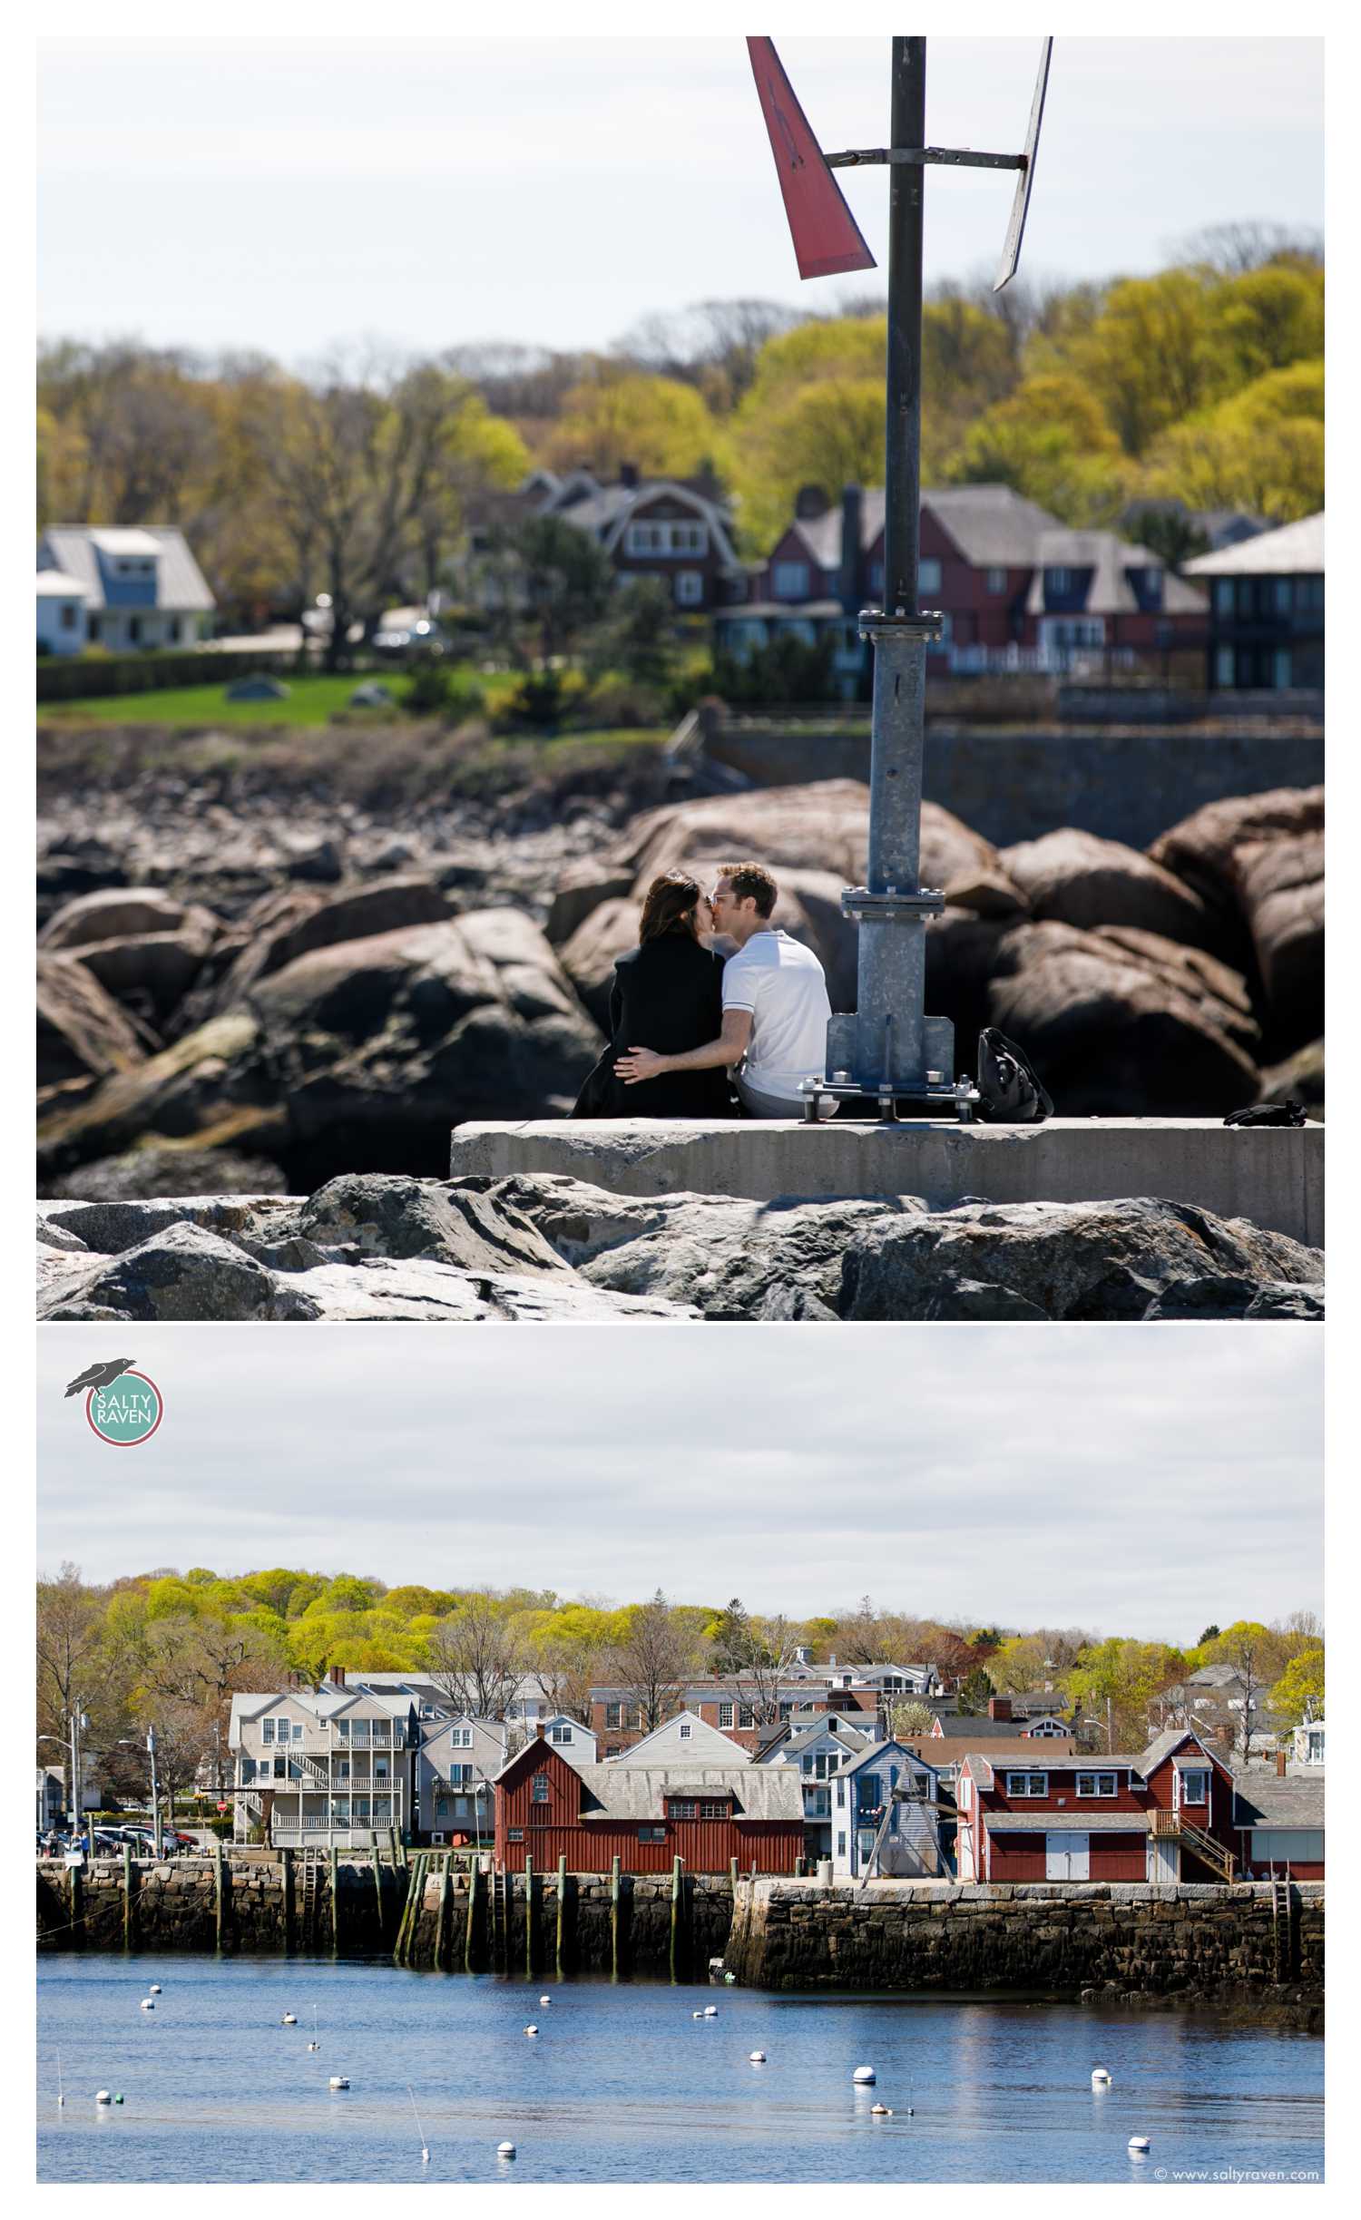
M1221 970L1157 935L1017 926L997 946L988 1021L1066 1117L1217 1117L1257 1097L1254 1026Z

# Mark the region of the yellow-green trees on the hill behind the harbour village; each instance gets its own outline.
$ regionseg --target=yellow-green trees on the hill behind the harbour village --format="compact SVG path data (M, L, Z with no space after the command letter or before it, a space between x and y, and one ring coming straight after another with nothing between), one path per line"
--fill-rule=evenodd
M386 1587L291 1567L233 1578L204 1565L91 1585L62 1565L38 1581L38 1734L49 1738L38 1756L51 1758L53 1738L67 1740L71 1716L84 1714L84 1749L113 1792L144 1789L149 1727L171 1792L189 1789L204 1760L222 1783L233 1694L282 1689L293 1676L315 1687L335 1665L426 1676L484 1718L502 1716L528 1678L555 1709L588 1721L591 1687L606 1683L644 1727L679 1707L690 1676L715 1672L757 1723L773 1723L797 1649L846 1667L932 1663L966 1716L986 1712L992 1694L1052 1689L1066 1716L1095 1721L1101 1740L1110 1734L1126 1749L1143 1747L1155 1718L1188 1721L1188 1674L1210 1663L1232 1665L1286 1721L1323 1716L1323 1632L1310 1612L1272 1627L1210 1625L1177 1647L1083 1627L946 1623L881 1610L870 1596L797 1621L748 1612L739 1598L722 1610L675 1603L662 1590L613 1605L524 1587ZM930 1727L913 1701L890 1716L899 1734Z

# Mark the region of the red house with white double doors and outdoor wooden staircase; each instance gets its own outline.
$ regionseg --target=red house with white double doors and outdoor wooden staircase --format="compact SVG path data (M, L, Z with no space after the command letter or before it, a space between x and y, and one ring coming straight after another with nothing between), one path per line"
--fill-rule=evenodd
M961 1880L1232 1880L1234 1776L1172 1727L1139 1756L992 1760L970 1749L955 1785Z

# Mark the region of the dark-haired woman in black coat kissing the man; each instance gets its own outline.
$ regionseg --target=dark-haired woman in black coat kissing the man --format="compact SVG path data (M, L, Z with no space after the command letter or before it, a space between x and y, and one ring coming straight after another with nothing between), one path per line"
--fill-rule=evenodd
M684 870L664 870L648 886L637 948L615 961L611 1046L588 1074L573 1117L733 1117L728 1074L662 1072L626 1088L615 1057L646 1041L664 1057L717 1041L724 1030L724 959L699 932L710 926L708 899Z

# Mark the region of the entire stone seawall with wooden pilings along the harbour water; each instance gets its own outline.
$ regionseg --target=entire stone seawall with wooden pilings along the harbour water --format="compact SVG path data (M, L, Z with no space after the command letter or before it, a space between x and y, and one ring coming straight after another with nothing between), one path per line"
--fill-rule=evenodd
M333 1880L335 1876L335 1880ZM131 1887L129 1887L131 1880ZM1323 2000L1323 1883L1150 1889L737 1880L555 1871L493 1878L291 1851L38 1865L49 1949L335 1951L433 1971L704 1980L755 1989L1041 1991L1119 2002L1246 2002L1312 2025Z

